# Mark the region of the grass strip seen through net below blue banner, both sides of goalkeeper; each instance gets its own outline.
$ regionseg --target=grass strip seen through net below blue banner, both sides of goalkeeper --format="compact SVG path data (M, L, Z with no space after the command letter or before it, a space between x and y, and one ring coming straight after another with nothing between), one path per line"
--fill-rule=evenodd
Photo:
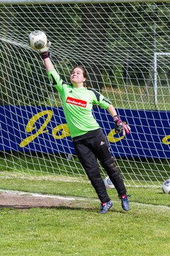
M117 158L116 164L120 167L123 179L127 184L139 182L141 184L154 184L155 186L163 183L169 178L169 159L126 159ZM71 160L66 155L47 155L30 154L24 155L19 152L0 154L0 171L8 171L13 175L28 174L28 176L57 176L64 175L69 177L85 178L84 170L79 164L77 156L72 156ZM103 169L101 174L106 176Z

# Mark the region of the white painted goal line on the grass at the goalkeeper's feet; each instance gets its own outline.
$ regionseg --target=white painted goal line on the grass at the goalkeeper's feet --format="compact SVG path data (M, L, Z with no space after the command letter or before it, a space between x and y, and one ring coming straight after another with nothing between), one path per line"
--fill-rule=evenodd
M8 194L17 194L17 195L21 195L21 196L34 196L34 197L40 197L40 198L55 198L55 199L60 199L60 200L67 200L67 201L89 201L89 198L80 198L80 197L66 197L66 196L56 196L56 195L44 195L42 193L30 193L30 192L23 192L23 191L11 191L11 190L5 190L5 189L0 189L0 193L8 193ZM90 199L90 201L96 201L98 202L98 199ZM130 204L132 205L136 205L136 206L145 206L148 208L161 208L162 210L170 210L169 206L155 206L155 205L151 205L151 204L147 204L147 203L135 203L135 202L130 202Z

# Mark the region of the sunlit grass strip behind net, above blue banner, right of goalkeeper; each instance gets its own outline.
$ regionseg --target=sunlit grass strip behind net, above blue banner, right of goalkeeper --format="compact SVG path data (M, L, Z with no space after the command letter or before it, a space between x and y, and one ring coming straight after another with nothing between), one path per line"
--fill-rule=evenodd
M107 87L101 93L108 97L113 106L120 109L132 110L170 110L167 87L158 87L157 105L154 102L153 87L139 87L134 85L119 85Z

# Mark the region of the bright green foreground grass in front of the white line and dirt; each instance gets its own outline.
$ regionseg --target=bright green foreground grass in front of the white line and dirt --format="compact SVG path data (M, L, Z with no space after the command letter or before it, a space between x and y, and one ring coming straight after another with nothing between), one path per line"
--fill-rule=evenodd
M1 255L169 255L169 211L1 210Z

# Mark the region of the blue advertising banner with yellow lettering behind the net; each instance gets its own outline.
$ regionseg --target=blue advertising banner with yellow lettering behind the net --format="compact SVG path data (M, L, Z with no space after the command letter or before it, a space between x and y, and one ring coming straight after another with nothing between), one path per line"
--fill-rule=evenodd
M170 112L118 110L130 134L115 134L113 118L95 109L114 156L170 159ZM0 151L75 154L62 107L0 106Z

